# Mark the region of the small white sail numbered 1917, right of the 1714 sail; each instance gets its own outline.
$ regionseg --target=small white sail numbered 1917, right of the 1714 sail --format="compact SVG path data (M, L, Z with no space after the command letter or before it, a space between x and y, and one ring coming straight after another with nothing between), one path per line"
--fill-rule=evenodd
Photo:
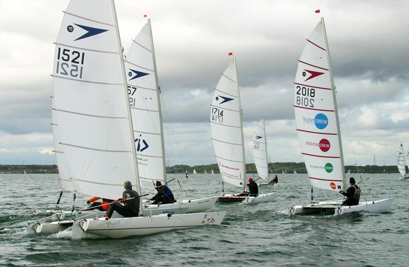
M265 136L264 118L256 126L253 134L253 158L260 178L267 180L267 141Z

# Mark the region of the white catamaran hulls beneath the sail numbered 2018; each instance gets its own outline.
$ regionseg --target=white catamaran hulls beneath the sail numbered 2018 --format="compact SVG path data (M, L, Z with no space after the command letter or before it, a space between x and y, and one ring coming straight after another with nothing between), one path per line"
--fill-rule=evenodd
M392 198L359 202L356 206L340 206L341 203L342 201L327 201L309 205L292 205L287 208L287 215L333 212L333 214L337 216L358 211L383 213L391 208Z

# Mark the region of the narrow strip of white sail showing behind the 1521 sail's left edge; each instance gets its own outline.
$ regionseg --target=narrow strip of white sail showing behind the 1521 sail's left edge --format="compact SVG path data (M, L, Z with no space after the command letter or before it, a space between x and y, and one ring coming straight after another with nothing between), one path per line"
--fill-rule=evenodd
M61 138L60 133L58 131L58 122L57 117L55 114L55 105L54 105L54 98L52 98L52 109L51 109L51 118L53 126L53 136L54 136L54 152L57 158L57 166L58 166L58 176L61 181L61 186L63 190L66 191L74 191L73 184L71 182L70 172L67 166L67 162L65 160L64 151L62 149L62 145L60 144Z

